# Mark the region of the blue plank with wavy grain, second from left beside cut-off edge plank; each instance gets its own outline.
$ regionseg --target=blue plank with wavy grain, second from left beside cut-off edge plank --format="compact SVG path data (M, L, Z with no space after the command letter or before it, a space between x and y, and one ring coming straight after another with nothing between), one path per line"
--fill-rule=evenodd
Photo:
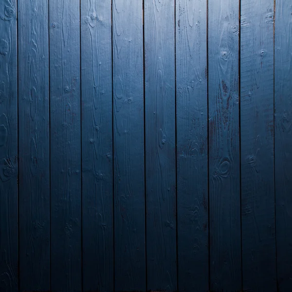
M48 2L18 0L19 289L50 290Z

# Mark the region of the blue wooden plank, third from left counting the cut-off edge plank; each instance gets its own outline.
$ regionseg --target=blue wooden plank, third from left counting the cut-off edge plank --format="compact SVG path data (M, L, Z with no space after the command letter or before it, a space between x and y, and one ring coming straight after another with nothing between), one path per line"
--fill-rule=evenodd
M49 0L51 291L81 291L80 2Z

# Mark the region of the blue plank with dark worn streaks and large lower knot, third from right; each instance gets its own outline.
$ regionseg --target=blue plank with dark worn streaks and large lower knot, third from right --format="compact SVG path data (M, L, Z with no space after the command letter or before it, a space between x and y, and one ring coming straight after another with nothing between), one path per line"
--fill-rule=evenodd
M208 2L211 291L240 291L238 0Z

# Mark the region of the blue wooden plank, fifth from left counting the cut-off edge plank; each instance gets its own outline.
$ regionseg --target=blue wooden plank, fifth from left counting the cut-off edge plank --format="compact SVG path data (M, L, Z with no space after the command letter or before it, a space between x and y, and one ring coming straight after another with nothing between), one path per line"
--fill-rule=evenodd
M142 1L113 0L115 291L146 290Z

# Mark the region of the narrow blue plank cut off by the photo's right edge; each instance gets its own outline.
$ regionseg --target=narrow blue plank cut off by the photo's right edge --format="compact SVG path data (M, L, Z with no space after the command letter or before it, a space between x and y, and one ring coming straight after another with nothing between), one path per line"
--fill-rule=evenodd
M292 287L292 3L276 0L275 199L278 292Z

